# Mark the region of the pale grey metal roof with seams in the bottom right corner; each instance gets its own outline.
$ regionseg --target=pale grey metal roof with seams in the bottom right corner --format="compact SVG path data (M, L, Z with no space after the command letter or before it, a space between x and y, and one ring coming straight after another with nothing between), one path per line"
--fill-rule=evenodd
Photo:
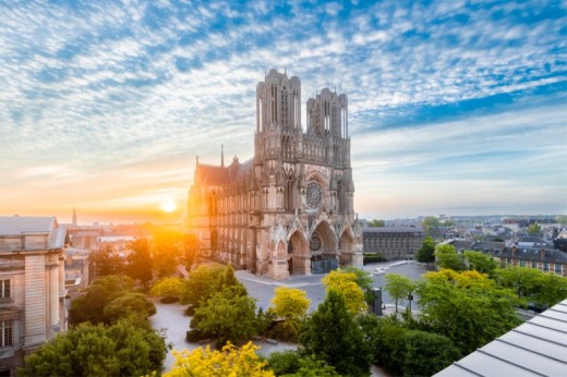
M567 300L435 376L566 376Z

